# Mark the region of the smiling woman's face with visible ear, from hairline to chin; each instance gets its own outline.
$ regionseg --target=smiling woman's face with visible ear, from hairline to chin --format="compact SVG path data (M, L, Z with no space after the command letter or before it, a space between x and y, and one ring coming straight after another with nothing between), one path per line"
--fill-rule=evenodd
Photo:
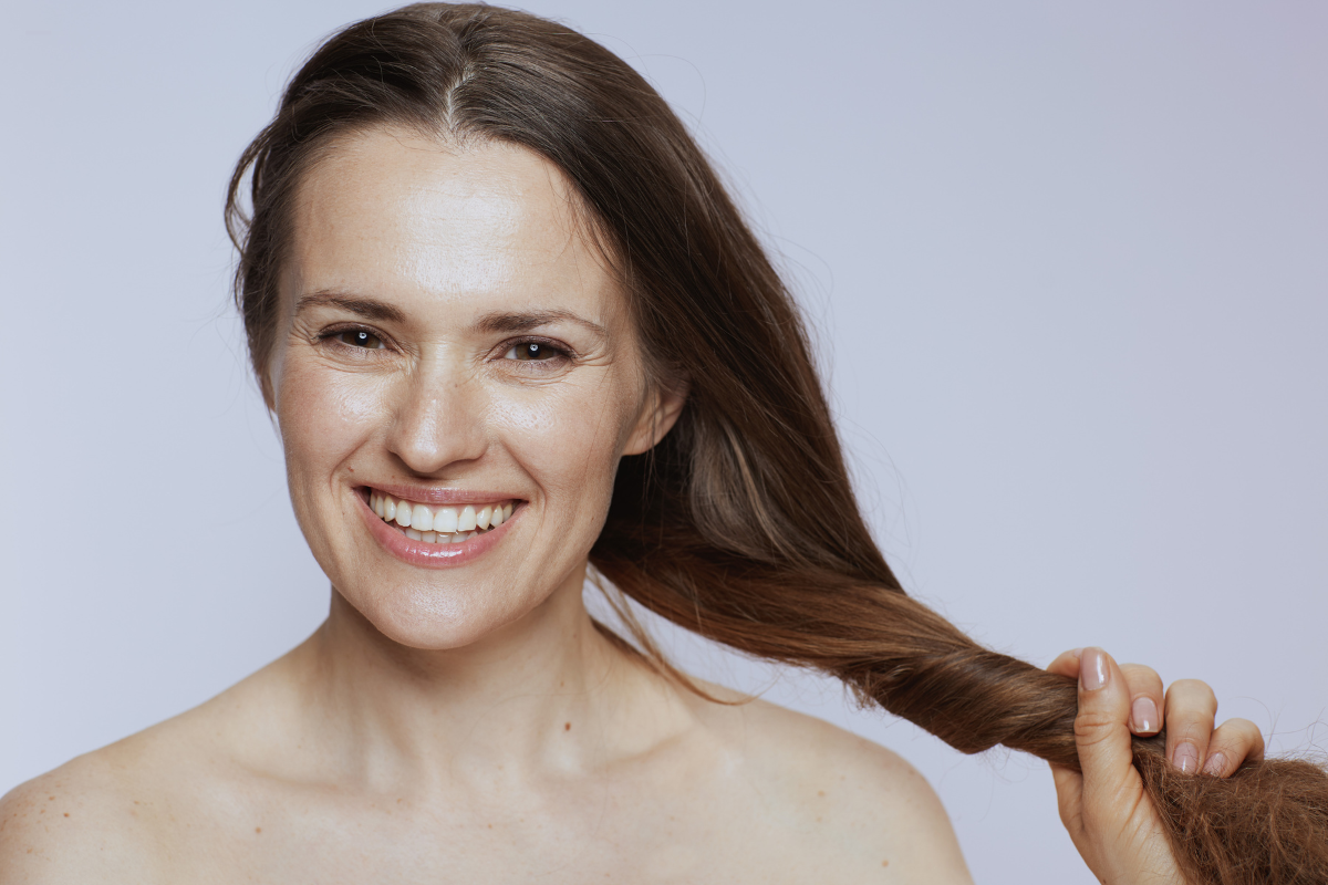
M576 211L530 151L401 131L301 182L270 365L291 498L397 642L457 647L579 593L619 458L676 415Z

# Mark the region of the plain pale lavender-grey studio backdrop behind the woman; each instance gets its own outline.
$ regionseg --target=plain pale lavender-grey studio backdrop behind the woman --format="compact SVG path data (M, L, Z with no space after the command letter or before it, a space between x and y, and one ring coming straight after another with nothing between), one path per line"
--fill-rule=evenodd
M222 200L299 61L381 11L24 5L0 61L0 792L325 614ZM734 187L910 592L1038 665L1101 645L1207 679L1274 750L1328 747L1325 7L531 9L645 73ZM1041 762L668 636L701 675L902 752L979 881L1093 881Z

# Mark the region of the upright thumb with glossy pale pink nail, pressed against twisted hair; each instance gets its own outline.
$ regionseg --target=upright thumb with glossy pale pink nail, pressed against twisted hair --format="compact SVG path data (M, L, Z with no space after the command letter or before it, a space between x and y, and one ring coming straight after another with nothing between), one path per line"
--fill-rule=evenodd
M1130 693L1125 674L1102 649L1084 649L1074 743L1084 770L1085 793L1114 796L1138 778L1129 719Z

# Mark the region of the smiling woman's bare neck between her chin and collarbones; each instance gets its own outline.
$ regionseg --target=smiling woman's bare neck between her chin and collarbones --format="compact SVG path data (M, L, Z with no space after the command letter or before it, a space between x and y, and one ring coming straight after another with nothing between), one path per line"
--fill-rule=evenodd
M685 705L595 629L580 589L578 575L448 650L393 642L333 590L328 620L292 655L311 736L353 782L398 791L574 776L648 750L684 727ZM672 715L633 715L661 701Z

